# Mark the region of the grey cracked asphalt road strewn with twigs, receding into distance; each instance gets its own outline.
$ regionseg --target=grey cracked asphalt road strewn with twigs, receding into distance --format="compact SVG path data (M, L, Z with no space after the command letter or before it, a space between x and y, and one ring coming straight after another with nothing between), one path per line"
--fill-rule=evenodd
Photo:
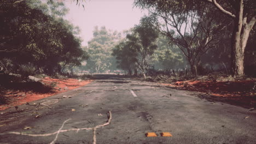
M256 110L200 95L97 75L89 85L0 111L0 143L256 143Z

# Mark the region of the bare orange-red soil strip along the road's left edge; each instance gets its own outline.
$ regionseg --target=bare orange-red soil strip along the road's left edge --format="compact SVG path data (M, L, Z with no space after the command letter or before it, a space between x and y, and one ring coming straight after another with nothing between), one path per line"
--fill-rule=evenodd
M76 79L50 79L49 77L45 77L41 80L44 85L53 85L55 83L52 91L48 93L36 93L33 91L21 91L21 90L8 90L3 95L9 101L8 104L0 105L0 110L8 109L9 107L18 106L22 104L29 103L34 100L43 99L46 97L50 97L52 95L56 95L59 93L63 93L69 91L74 88L82 87L92 82L92 80L79 81Z

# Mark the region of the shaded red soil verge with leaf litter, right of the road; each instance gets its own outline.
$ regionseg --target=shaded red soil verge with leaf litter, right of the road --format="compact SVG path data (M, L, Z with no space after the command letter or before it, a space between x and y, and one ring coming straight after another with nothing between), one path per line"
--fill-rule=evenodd
M161 85L196 91L212 95L211 100L218 99L242 105L244 107L256 107L256 81L177 81L172 84ZM209 97L207 97L209 98ZM235 102L234 102L235 100Z

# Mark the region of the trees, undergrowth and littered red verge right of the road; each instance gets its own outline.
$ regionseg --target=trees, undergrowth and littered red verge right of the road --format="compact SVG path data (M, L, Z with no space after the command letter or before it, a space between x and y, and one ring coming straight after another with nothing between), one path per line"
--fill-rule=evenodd
M255 2L135 0L134 4L149 14L113 50L118 67L127 75L255 107L256 14L251 7ZM137 34L137 27L152 30ZM144 40L155 47L144 46Z

